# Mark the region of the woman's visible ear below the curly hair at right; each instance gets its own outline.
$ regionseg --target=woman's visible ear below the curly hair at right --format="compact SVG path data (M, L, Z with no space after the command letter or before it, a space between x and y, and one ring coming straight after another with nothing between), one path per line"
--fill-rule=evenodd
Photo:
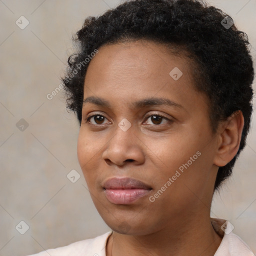
M218 129L217 151L213 163L224 166L235 156L239 149L244 119L241 110L232 113L221 122Z

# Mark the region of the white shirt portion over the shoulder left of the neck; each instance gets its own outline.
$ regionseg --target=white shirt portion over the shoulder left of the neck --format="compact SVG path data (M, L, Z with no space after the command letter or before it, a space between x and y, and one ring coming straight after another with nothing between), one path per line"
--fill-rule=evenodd
M111 232L106 232L95 238L76 241L66 246L46 249L28 256L105 256L105 244Z

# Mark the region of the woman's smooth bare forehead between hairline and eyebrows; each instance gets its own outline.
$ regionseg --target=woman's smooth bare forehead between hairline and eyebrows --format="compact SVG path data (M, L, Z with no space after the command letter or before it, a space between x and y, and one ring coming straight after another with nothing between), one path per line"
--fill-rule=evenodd
M138 40L106 44L90 61L84 79L84 99L135 101L160 96L178 103L201 97L194 90L191 64L162 44Z

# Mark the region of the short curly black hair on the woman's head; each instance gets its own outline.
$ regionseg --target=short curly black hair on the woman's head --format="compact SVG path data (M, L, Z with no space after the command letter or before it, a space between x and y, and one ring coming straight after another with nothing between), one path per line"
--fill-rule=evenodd
M219 121L242 111L239 149L230 162L218 169L214 191L219 190L231 175L250 128L254 70L247 34L236 28L229 15L202 0L130 0L100 16L87 17L73 36L78 49L68 57L61 78L67 108L76 113L80 124L84 77L90 59L103 44L138 39L164 43L177 54L186 52L195 63L191 68L194 87L208 98L213 132Z

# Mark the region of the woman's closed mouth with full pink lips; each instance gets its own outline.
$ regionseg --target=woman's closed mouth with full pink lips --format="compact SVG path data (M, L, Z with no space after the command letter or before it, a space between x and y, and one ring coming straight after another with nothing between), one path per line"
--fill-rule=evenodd
M129 177L113 177L103 185L106 198L114 204L131 204L152 189L144 182Z

